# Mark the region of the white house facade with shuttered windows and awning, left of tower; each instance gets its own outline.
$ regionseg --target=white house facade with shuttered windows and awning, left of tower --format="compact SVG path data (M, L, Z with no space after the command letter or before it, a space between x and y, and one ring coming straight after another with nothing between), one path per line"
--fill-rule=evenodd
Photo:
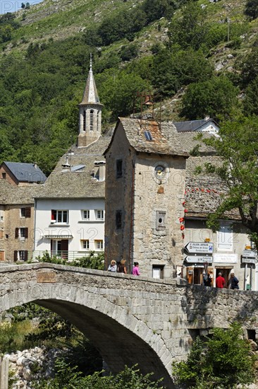
M104 199L36 199L34 257L74 260L104 250Z

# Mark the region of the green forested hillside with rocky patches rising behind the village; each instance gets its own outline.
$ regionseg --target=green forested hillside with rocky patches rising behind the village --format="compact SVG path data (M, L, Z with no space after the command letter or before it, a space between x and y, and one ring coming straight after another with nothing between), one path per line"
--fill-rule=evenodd
M90 53L104 131L161 102L162 118L258 113L258 0L44 0L0 18L0 162L49 174L75 142Z

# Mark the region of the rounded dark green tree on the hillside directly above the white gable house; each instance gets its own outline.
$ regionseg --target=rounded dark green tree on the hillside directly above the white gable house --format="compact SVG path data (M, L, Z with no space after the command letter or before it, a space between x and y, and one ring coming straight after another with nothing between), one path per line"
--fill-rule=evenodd
M189 120L210 117L228 117L237 104L238 89L225 76L192 83L183 96L181 116Z

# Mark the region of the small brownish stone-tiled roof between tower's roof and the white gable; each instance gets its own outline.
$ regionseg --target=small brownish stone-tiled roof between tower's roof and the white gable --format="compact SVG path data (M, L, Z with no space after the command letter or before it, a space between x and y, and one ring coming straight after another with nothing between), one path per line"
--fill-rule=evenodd
M198 135L201 134L202 138L199 138ZM204 144L202 139L209 139L213 137L209 132L178 132L179 139L181 143L184 145L184 148L188 153L192 153L194 149L196 149L197 153L200 155L211 155L216 154L216 150Z

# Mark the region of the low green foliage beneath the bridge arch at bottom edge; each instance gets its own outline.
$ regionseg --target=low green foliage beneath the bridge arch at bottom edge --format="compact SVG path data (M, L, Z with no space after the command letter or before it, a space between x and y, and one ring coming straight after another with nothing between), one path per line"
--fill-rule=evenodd
M41 381L34 383L34 389L151 389L162 388L160 381L152 382L152 374L143 376L140 371L133 366L125 366L121 373L116 376L102 376L102 372L92 374L92 376L82 376L75 367L70 367L62 359L56 361L57 373L49 383Z

